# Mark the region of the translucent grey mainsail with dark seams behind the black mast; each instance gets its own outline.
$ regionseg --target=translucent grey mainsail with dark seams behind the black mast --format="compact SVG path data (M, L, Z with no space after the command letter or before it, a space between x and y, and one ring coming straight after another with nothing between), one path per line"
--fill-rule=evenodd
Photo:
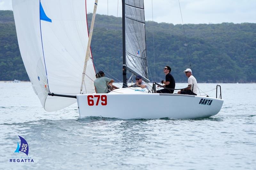
M143 0L125 1L125 48L127 69L149 82Z

